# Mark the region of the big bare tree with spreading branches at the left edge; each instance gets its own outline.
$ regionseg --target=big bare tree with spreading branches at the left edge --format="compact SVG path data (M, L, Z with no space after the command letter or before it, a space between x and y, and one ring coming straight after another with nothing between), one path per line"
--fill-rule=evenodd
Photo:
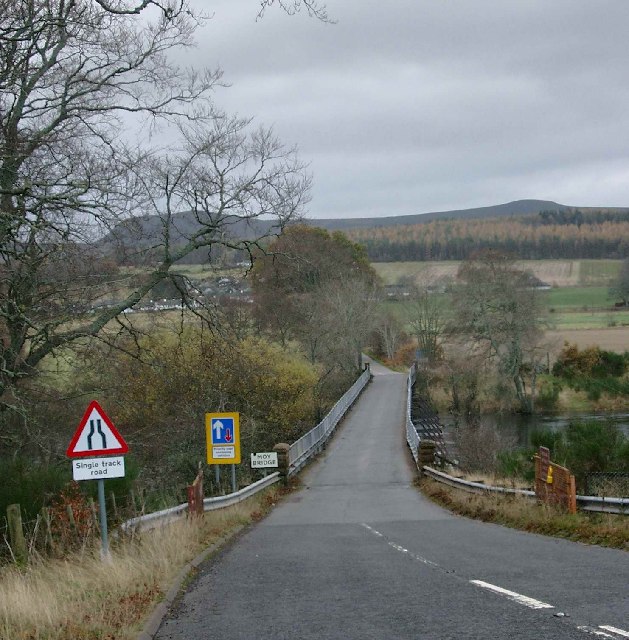
M2 406L44 357L110 338L182 257L250 250L300 215L309 178L294 150L214 108L219 71L172 62L198 24L178 0L0 0ZM125 137L138 122L144 134ZM134 228L149 274L97 306L119 277L114 238Z

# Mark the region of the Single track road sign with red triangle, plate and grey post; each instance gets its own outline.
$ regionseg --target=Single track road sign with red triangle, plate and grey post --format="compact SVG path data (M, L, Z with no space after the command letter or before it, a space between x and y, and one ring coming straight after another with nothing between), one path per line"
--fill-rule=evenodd
M77 427L66 455L72 460L72 477L77 480L98 481L98 507L100 514L101 557L109 558L107 536L107 504L105 502L105 478L123 478L124 458L114 456L127 453L129 447L118 433L103 408L93 400L87 407ZM78 458L78 459L76 459Z

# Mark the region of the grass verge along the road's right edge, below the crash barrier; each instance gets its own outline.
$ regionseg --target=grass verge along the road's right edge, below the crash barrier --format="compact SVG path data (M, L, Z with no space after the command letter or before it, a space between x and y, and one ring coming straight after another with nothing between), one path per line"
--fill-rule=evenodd
M421 491L462 516L530 533L629 551L629 517L604 513L570 515L523 496L476 494L423 478Z

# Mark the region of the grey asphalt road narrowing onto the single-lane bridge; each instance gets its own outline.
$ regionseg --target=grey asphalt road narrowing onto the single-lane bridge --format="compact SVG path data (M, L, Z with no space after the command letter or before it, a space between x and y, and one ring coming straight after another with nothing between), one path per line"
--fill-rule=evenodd
M303 489L201 568L157 638L629 638L629 554L426 500L405 376L373 371Z

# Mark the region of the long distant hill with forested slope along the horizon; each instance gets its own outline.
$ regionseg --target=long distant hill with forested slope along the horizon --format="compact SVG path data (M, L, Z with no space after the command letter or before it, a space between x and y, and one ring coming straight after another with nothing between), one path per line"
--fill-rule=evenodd
M510 251L523 258L617 258L629 252L625 240L628 220L629 208L576 208L551 200L516 200L473 209L302 222L328 231L346 232L350 239L367 248L371 260L395 261L457 260L485 247ZM621 222L624 226L617 226ZM171 246L183 244L198 229L193 212L174 215L170 225ZM251 240L272 236L277 231L270 220L247 221L233 216L221 224L224 239ZM159 259L162 234L159 217L136 217L120 223L99 244L119 264L151 262ZM211 256L207 248L198 249L183 262L204 264L217 258L236 262L244 257L234 251L227 257L224 249L215 246Z

